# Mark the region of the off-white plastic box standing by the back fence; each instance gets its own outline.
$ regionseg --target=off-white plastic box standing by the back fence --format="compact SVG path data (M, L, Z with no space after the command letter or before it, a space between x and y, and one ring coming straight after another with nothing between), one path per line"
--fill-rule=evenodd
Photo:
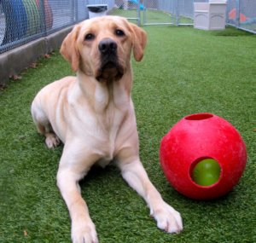
M226 25L225 1L194 3L194 27L202 30L224 30Z

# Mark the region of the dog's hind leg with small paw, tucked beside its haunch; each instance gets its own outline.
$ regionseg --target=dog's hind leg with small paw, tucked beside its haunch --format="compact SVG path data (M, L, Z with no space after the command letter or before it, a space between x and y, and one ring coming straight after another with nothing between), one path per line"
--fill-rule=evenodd
M45 144L48 148L55 148L60 144L60 139L56 136L49 119L45 115L41 107L36 106L35 102L32 103L31 108L32 119L38 128L38 132L45 136Z

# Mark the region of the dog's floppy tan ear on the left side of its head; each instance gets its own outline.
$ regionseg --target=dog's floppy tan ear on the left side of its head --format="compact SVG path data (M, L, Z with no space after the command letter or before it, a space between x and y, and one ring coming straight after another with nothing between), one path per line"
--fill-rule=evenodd
M74 72L79 70L79 49L76 46L76 41L79 36L80 26L74 26L72 32L70 32L61 44L61 55L70 62Z

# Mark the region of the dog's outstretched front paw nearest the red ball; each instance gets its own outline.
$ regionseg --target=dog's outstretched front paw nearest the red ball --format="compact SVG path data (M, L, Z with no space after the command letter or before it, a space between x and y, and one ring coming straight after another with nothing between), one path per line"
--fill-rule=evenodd
M159 229L165 230L167 233L179 233L183 230L183 221L179 212L165 202L150 213L156 220Z

